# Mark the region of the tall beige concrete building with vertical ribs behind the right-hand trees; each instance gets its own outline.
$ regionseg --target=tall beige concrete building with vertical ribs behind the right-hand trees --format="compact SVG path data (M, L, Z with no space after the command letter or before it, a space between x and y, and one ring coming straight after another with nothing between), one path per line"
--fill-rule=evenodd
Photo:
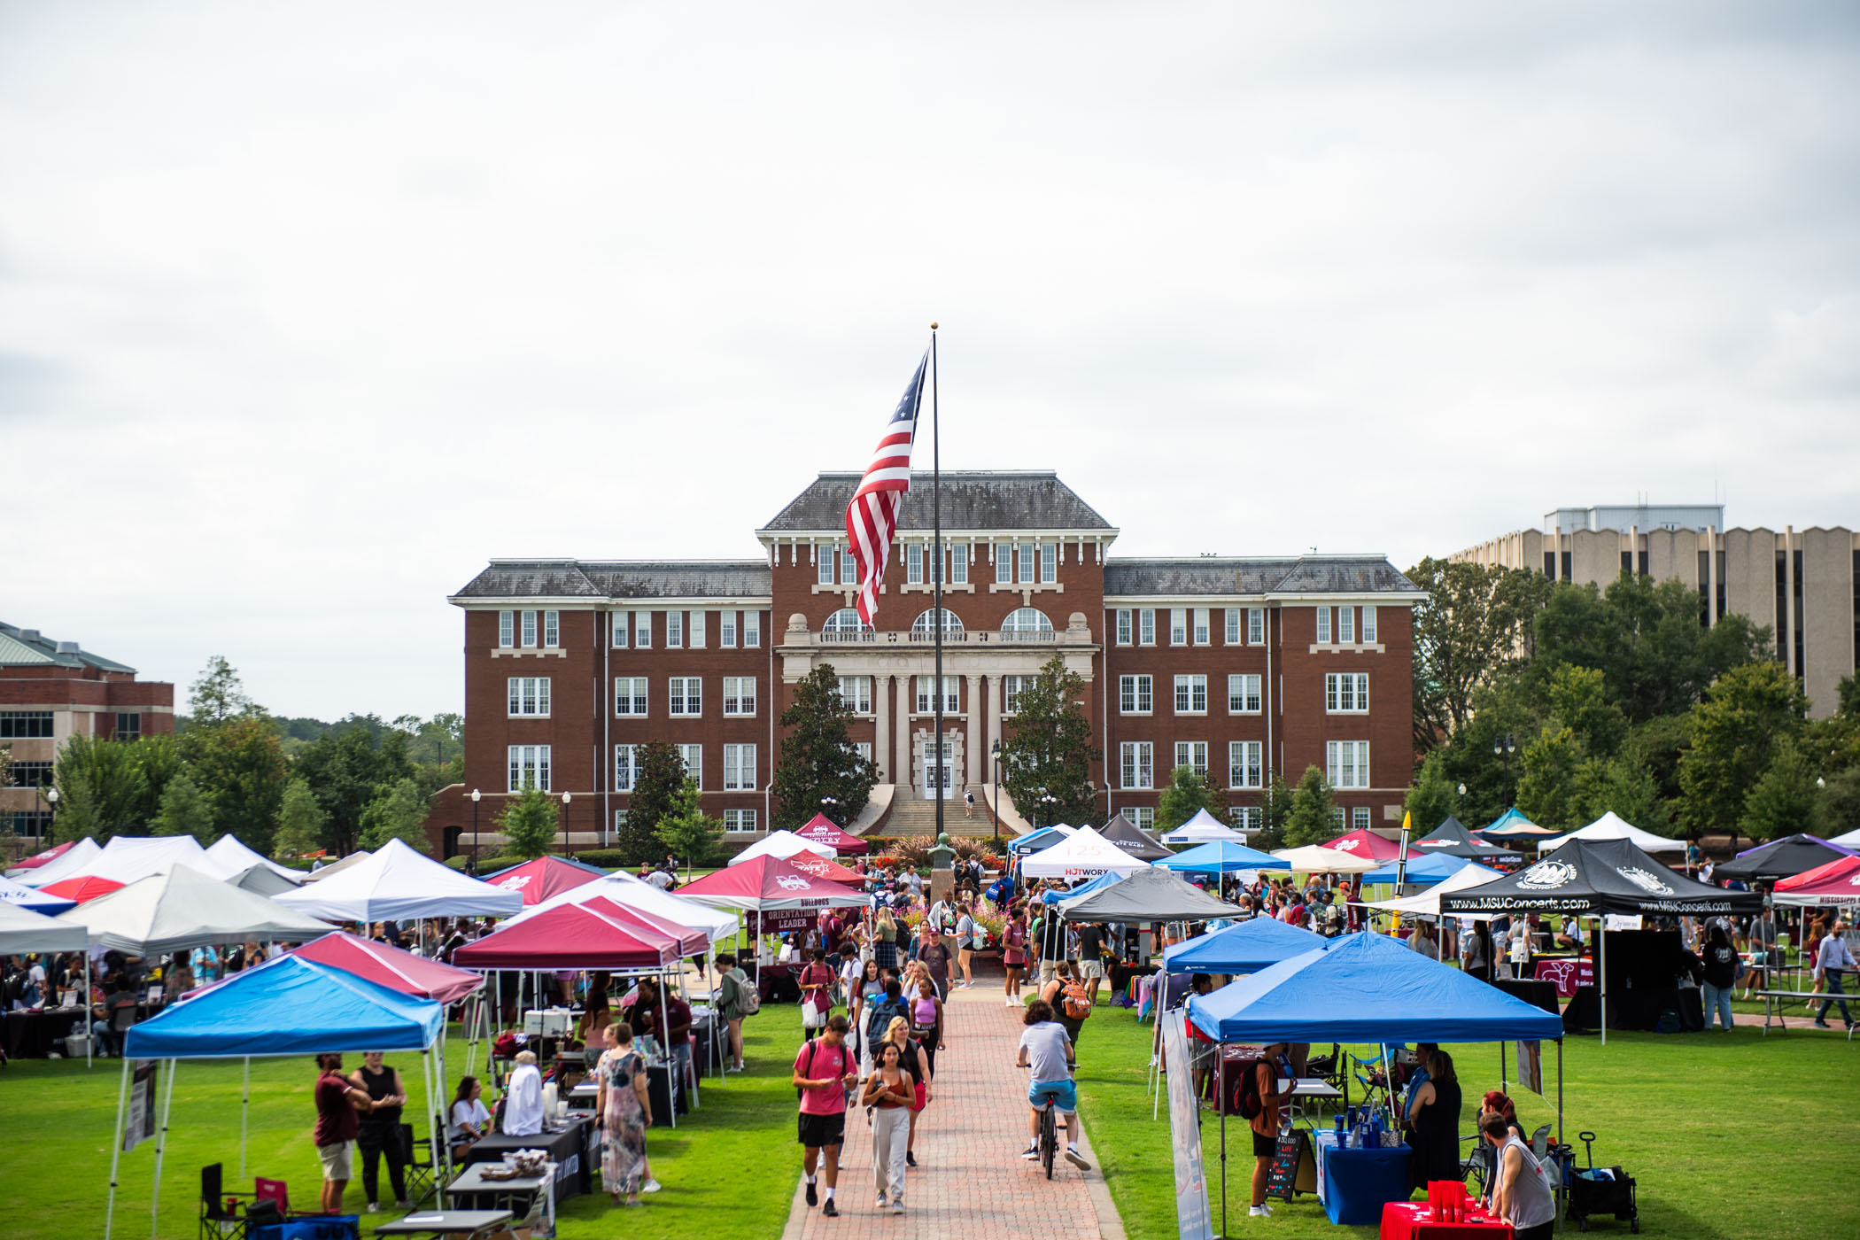
M1678 578L1698 591L1698 623L1748 615L1769 625L1776 658L1808 693L1810 714L1840 705L1860 660L1860 534L1845 526L1726 530L1719 504L1559 508L1542 530L1468 547L1455 561L1533 569L1607 586L1622 573Z

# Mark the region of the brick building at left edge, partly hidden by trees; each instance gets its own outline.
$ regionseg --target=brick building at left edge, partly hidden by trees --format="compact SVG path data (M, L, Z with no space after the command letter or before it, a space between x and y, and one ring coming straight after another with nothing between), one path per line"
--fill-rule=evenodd
M175 686L56 641L37 628L0 625L0 749L11 768L0 818L22 838L46 835L52 762L71 736L134 740L175 731Z

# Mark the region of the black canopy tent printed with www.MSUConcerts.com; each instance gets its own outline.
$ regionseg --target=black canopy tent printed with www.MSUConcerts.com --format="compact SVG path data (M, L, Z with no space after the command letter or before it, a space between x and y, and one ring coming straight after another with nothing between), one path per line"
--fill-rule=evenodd
M1713 917L1756 913L1763 896L1724 890L1685 877L1654 861L1633 840L1572 838L1516 874L1453 890L1440 898L1440 911L1455 913L1557 913L1594 917ZM1600 930L1598 930L1600 933ZM1600 961L1598 961L1600 963ZM1601 1043L1609 1041L1609 976L1601 969Z

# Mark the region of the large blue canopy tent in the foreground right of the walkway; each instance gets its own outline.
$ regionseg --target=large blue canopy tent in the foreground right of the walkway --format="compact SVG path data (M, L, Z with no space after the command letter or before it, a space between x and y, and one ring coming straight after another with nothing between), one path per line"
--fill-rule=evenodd
M1562 1141L1562 1017L1419 956L1399 939L1354 933L1189 1000L1189 1022L1213 1041L1557 1043L1557 1141ZM1501 1080L1503 1086L1503 1080ZM1226 1214L1228 1117L1220 1117Z

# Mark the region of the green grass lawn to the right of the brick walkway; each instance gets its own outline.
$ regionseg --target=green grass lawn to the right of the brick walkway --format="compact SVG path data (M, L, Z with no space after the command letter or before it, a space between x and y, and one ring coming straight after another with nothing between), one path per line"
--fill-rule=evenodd
M1131 1240L1174 1240L1176 1195L1168 1104L1149 1119L1146 1065L1149 1026L1129 1011L1099 1008L1079 1039L1079 1108ZM1497 1088L1497 1047L1455 1045L1466 1114ZM1555 1119L1553 1047L1544 1049L1549 1101L1512 1088L1527 1128ZM1510 1056L1507 1056L1510 1058ZM1860 1236L1854 1179L1854 1088L1860 1043L1838 1032L1760 1030L1724 1034L1609 1034L1564 1043L1564 1140L1598 1134L1596 1162L1639 1181L1641 1229L1687 1240L1745 1236ZM1203 1114L1209 1182L1220 1182L1218 1119ZM1246 1218L1252 1173L1242 1121L1228 1121L1229 1234L1373 1236L1339 1229L1317 1197L1274 1203L1270 1220ZM1213 1195L1213 1194L1211 1194ZM1213 1199L1215 1227L1220 1201ZM1590 1231L1607 1233L1611 1220ZM1626 1234L1626 1223L1620 1225ZM1574 1234L1574 1229L1572 1229Z

